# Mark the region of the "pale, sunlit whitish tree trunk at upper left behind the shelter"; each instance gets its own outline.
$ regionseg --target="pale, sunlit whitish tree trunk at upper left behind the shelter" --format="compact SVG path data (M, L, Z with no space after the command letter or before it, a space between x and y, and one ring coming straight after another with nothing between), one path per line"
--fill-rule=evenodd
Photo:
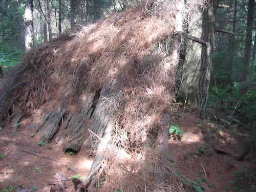
M25 22L25 51L33 46L33 0L26 0L24 22Z

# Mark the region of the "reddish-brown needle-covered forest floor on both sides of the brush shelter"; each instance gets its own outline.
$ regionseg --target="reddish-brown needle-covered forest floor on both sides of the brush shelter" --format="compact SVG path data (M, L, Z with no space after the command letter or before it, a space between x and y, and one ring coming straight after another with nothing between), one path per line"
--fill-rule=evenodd
M88 157L86 151L82 149L77 154L70 154L63 153L62 147L54 143L40 146L40 138L38 134L31 136L29 124L28 119L23 119L19 125L10 122L0 130L0 154L4 156L0 158L1 191L8 185L16 191L50 191L51 185L47 182L54 181L56 173L67 178L78 176L82 180L87 177L93 158ZM244 152L243 136L231 129L205 123L193 114L182 116L177 124L184 135L181 141L169 140L169 156L180 178L197 183L195 186L186 183L184 191L196 191L196 186L205 187L205 191L239 191L234 187L250 191L249 188L255 188L255 178L250 172L255 168L255 150L243 161L236 159ZM102 184L104 181L99 187Z

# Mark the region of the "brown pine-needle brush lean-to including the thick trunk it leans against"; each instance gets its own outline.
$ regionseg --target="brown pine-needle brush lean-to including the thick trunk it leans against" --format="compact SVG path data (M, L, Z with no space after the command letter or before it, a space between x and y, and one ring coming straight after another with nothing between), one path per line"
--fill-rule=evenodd
M1 119L11 112L29 119L42 143L91 151L86 188L104 162L101 191L124 178L134 183L129 190L122 183L124 191L168 190L175 95L180 90L204 113L218 2L147 1L31 49L7 79ZM120 160L120 151L131 158Z

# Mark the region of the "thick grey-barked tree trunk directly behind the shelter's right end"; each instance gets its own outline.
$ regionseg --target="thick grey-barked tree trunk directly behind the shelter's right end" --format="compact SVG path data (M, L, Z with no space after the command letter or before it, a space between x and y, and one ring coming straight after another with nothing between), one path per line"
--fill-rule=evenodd
M208 2L208 7L196 12L188 25L188 33L203 39L209 46L188 42L182 64L179 98L195 104L199 115L206 117L206 105L210 82L211 58L214 50L215 18L218 0Z

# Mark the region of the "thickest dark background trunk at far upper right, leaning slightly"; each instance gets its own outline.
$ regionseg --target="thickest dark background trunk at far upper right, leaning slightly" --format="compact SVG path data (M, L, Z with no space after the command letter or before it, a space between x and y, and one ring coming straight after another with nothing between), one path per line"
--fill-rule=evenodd
M245 37L245 49L244 49L244 66L242 74L240 77L240 82L247 80L248 76L248 66L250 64L250 50L251 50L251 41L252 41L252 25L253 25L253 12L254 12L254 0L249 0L248 6L248 16L247 16L247 25L246 25L246 37ZM246 93L246 87L242 86L240 88L242 94Z

